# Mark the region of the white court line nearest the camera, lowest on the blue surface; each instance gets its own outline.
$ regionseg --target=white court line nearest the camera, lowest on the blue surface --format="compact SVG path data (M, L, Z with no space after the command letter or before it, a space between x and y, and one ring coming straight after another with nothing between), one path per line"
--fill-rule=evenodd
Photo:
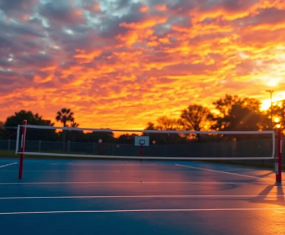
M105 211L32 211L32 212L1 212L0 215L126 213L126 212L215 212L215 211L285 211L285 207L279 207L279 208L275 207L275 208L138 209L138 210L105 210Z

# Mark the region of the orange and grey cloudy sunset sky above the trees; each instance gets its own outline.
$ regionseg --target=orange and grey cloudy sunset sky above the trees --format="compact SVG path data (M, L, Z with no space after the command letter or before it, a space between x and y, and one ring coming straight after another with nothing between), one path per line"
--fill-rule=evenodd
M0 120L143 128L224 96L285 99L284 0L0 0Z

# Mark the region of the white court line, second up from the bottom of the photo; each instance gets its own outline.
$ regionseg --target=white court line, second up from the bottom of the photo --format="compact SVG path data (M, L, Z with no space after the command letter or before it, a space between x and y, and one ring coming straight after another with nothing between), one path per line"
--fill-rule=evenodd
M18 199L94 199L94 198L278 198L284 195L111 195L111 196L53 196L53 197L5 197L0 200Z

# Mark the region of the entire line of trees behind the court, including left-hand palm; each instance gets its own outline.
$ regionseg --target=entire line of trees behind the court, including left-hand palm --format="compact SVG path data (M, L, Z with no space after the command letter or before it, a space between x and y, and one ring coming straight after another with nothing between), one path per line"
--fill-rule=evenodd
M271 122L271 110L262 112L261 102L254 98L241 98L239 96L225 95L212 103L213 110L202 105L189 105L181 111L179 118L168 116L159 117L156 122L148 122L145 130L270 130L273 128L285 128L285 100L276 103L272 107L274 114ZM0 123L0 138L14 138L15 129L9 127L17 126L26 119L29 124L34 125L51 125L55 123L52 120L44 119L39 114L33 114L31 111L20 111L7 117L4 123ZM79 127L75 122L74 113L67 108L57 112L55 120L63 126ZM36 136L35 129L31 133ZM110 132L92 132L83 133L79 131L55 132L54 130L46 131L46 138L52 140L83 140L98 141L103 139L104 142L129 143L133 144L135 134L122 134L114 137ZM181 135L181 134L148 134L151 140L156 143L182 143L187 141L203 139L199 134ZM238 136L233 136L238 137ZM242 136L239 136L242 137ZM243 136L245 137L245 136Z

